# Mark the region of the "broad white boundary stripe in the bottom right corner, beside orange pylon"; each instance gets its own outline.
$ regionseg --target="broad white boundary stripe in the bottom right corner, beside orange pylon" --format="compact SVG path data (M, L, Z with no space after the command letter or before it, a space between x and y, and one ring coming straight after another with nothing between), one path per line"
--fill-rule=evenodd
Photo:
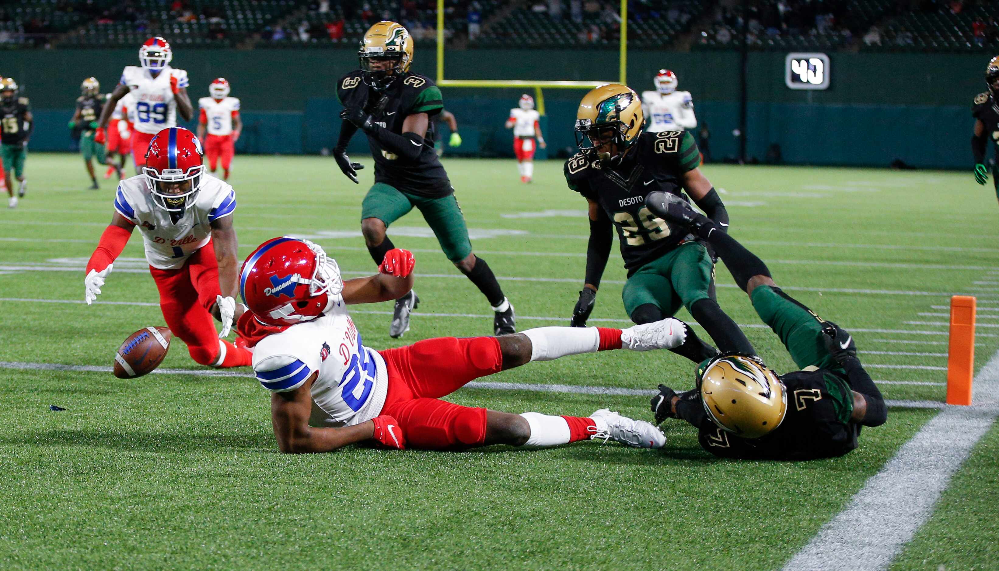
M999 414L999 352L975 376L973 402L943 406L784 569L866 571L891 565Z

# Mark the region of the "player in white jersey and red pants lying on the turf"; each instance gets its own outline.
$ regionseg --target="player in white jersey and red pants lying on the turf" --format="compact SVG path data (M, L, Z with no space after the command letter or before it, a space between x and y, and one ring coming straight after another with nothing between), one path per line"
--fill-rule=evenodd
M291 237L261 245L240 273L250 310L238 323L254 371L272 391L283 452L327 452L375 439L392 448L464 449L490 444L555 446L587 438L659 448L648 422L606 409L589 417L510 414L440 397L474 378L535 360L603 349L648 350L683 342L673 318L627 329L539 327L499 337L441 337L376 351L347 310L396 299L413 286L413 255L386 253L380 274L343 282L319 246Z

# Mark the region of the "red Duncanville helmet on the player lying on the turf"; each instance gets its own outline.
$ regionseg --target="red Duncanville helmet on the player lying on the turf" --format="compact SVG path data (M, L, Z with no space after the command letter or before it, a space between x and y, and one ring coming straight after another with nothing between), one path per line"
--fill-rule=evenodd
M243 263L240 295L262 323L294 325L341 301L337 262L318 245L291 236L260 245Z

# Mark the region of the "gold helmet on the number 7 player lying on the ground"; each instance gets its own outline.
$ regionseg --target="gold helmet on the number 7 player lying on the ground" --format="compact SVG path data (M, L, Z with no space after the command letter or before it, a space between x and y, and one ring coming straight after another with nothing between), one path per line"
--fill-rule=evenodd
M720 354L697 372L704 410L722 430L759 438L784 420L784 384L759 357Z

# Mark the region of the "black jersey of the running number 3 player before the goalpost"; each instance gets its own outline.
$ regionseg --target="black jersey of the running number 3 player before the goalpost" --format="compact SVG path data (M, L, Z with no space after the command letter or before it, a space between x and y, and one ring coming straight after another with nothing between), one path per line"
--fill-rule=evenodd
M378 92L365 84L361 70L353 71L337 84L337 98L344 107L363 108L378 125L399 135L403 134L403 122L408 116L426 113L433 117L444 109L441 89L429 77L415 73L407 73L388 90ZM416 161L399 157L369 136L368 146L375 158L375 182L425 197L452 194L448 173L434 150L434 133L434 129L427 130Z

